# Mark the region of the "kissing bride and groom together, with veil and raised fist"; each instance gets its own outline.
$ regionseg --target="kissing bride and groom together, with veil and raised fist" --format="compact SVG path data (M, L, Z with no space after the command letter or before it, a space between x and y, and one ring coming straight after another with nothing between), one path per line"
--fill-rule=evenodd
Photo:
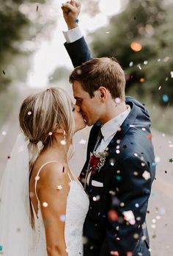
M91 58L78 27L80 4L62 5L76 104L48 88L21 105L21 134L1 182L4 256L148 256L146 214L155 177L150 116L125 97L114 58ZM73 135L92 126L77 179ZM80 155L78 155L80 157Z

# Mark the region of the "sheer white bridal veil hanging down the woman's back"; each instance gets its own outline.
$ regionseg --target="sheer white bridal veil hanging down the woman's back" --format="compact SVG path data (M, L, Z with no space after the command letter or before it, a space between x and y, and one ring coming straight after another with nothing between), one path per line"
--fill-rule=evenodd
M29 152L22 134L13 146L0 185L0 253L31 256Z

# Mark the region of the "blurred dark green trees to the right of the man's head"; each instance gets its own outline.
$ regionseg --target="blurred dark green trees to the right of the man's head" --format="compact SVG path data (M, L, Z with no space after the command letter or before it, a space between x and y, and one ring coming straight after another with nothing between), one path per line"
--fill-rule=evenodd
M108 26L91 35L94 55L116 57L125 69L126 90L159 104L173 102L172 12L173 4L162 0L129 0Z

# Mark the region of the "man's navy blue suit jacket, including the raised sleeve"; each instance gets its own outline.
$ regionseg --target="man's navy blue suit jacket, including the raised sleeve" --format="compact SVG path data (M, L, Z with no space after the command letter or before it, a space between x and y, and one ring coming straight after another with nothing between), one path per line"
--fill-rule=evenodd
M84 38L65 43L65 47L75 67L91 58ZM136 99L126 97L126 104L130 105L130 114L109 143L104 166L92 174L87 186L90 205L84 223L84 256L109 256L111 251L118 251L120 256L128 251L133 256L150 255L145 224L155 177L150 116ZM95 124L89 135L87 160L80 176L83 185L99 129L100 124ZM103 187L95 187L92 180L103 183ZM133 223L125 219L128 211L135 217Z

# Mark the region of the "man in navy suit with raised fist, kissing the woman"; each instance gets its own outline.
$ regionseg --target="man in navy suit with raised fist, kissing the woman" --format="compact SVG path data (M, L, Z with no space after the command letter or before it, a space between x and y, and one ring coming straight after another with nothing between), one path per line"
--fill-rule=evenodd
M77 66L70 75L73 94L93 125L80 175L90 202L84 256L148 256L145 218L155 177L150 116L135 99L125 98L125 74L117 60L90 60L78 29L80 6L69 1L62 10L70 29L65 47Z

